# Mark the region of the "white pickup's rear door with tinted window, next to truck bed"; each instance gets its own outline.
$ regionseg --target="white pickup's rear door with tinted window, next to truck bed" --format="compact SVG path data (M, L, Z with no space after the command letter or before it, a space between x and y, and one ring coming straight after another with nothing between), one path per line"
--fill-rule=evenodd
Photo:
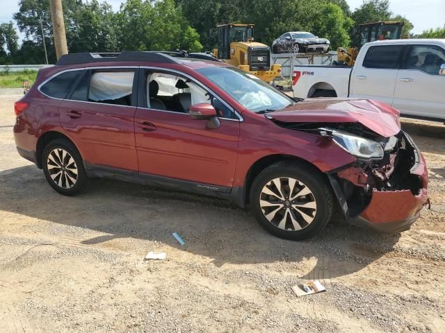
M398 68L405 44L374 45L355 63L350 77L350 97L392 104Z

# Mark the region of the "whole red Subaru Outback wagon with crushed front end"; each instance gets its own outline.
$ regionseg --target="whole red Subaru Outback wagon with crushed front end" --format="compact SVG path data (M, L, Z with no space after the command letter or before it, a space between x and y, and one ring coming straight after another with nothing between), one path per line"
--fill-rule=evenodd
M428 203L425 160L377 101L291 99L221 62L156 52L63 56L15 103L17 150L60 194L89 177L250 206L277 237L306 239L335 209L381 232Z

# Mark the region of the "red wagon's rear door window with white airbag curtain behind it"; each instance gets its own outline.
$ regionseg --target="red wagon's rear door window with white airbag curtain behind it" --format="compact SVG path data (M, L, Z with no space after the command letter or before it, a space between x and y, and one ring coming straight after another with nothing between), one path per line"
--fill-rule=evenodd
M95 71L90 78L88 101L131 105L134 71Z

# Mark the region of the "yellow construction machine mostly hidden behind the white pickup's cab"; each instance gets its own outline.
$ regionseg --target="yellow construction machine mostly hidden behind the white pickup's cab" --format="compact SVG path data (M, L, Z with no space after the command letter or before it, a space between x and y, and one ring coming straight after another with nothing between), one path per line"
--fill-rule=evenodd
M401 38L403 22L373 22L359 24L358 38L353 42L358 42L359 46L348 49L339 47L337 49L337 62L334 65L353 66L359 49L368 42L375 40L398 40Z

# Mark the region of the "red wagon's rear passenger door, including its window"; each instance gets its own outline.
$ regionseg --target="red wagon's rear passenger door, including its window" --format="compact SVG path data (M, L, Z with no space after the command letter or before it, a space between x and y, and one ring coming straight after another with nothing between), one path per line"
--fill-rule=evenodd
M133 68L85 70L59 107L60 123L79 146L88 169L137 171Z

